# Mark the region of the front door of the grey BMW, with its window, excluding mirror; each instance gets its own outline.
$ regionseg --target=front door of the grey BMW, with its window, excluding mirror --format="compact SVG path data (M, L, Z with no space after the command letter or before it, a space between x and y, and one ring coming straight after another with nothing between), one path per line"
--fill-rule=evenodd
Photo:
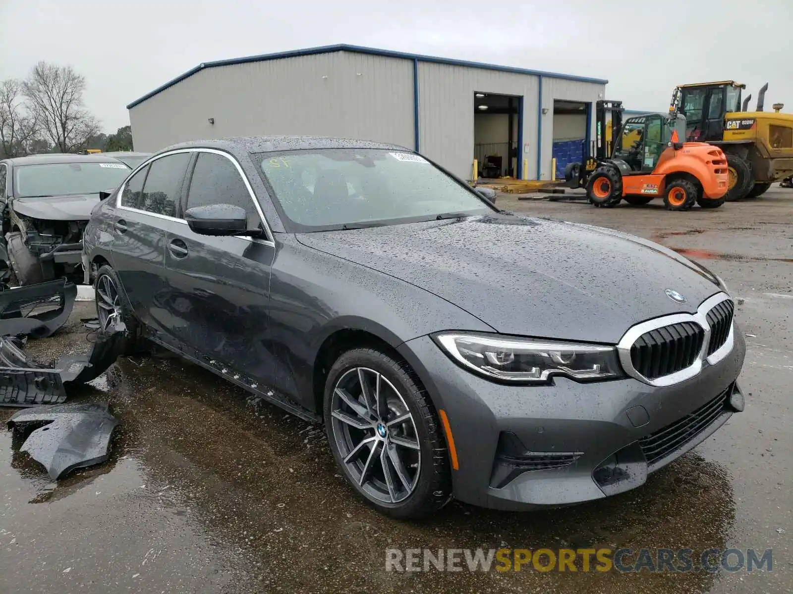
M185 210L234 204L247 211L249 227L259 227L262 213L254 200L231 155L198 152ZM212 237L194 233L184 221L171 224L165 249L166 307L178 346L192 349L213 367L224 365L271 385L274 365L266 331L274 253L270 238Z

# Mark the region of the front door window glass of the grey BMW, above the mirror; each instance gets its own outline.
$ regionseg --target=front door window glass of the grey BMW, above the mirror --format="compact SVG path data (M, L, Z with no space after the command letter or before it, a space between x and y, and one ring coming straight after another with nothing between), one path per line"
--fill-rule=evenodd
M222 154L199 154L190 179L187 208L208 204L234 204L245 209L249 222L259 220L243 178L234 163Z

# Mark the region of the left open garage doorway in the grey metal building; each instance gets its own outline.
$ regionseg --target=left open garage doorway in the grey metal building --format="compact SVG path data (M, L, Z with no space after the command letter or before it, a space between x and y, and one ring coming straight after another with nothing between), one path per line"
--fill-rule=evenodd
M522 97L473 93L473 158L480 177L518 177Z

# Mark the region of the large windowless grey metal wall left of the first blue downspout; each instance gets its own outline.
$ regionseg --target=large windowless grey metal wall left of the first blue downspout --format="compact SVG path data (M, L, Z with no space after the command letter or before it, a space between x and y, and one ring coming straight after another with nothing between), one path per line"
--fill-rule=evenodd
M413 147L413 61L336 51L208 68L136 105L129 119L136 150L267 134Z

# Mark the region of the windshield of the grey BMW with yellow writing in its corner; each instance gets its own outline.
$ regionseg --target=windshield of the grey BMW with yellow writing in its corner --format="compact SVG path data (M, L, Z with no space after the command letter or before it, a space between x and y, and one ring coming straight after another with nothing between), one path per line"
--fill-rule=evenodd
M323 149L254 156L290 230L374 227L494 210L414 153Z

